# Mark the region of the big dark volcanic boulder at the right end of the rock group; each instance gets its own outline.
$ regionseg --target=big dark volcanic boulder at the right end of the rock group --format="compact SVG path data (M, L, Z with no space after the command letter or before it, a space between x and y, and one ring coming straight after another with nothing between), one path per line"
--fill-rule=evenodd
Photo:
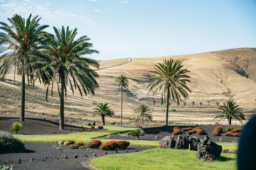
M215 158L220 157L222 146L218 145L206 135L200 139L197 144L197 159L204 159L206 161L213 161Z

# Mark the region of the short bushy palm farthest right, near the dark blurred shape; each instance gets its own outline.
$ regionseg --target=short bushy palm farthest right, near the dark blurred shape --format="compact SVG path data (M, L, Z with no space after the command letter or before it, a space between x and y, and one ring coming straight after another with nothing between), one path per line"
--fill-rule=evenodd
M221 118L218 122L220 122L222 119L223 121L225 119L228 120L228 124L231 125L231 120L238 120L242 125L243 121L245 121L246 119L244 118L244 115L241 113L242 108L238 108L239 105L236 105L236 102L233 101L226 101L225 103L223 103L224 106L220 106L220 110L222 115L216 116L214 119L218 119ZM222 121L222 122L223 122Z

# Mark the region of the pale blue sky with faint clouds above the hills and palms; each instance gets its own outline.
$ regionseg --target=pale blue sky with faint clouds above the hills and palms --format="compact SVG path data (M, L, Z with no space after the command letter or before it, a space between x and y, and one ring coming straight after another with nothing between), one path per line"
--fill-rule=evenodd
M15 13L77 27L97 60L256 47L256 0L0 0L0 21Z

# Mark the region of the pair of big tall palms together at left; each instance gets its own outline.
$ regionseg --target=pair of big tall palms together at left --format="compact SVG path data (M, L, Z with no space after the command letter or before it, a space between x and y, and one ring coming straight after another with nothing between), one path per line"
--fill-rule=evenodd
M99 87L96 78L98 74L91 69L99 68L99 63L93 59L83 57L86 54L99 53L91 49L92 43L87 36L75 40L77 28L69 30L53 27L55 35L45 32L49 25L39 25L41 18L32 18L32 14L25 20L20 15L7 18L10 25L0 22L0 76L3 79L13 66L21 74L21 116L24 121L25 113L25 75L27 83L33 84L39 79L53 89L53 80L57 77L60 82L58 92L60 97L60 129L64 129L64 95L70 86L73 94L78 89L82 96L84 92L94 95Z

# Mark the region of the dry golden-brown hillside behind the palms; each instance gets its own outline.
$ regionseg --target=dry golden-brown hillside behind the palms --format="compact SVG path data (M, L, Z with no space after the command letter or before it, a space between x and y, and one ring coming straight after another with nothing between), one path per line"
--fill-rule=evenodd
M109 103L116 117L106 118L106 121L117 122L120 115L120 88L117 87L115 80L121 74L129 79L129 87L124 90L124 117L126 123L132 123L131 117L133 110L140 104L146 104L152 107L154 120L164 120L164 106L160 104L161 94L152 95L147 89L148 78L153 76L149 71L154 70L157 62L163 62L163 59L179 60L183 63L184 69L190 72L191 83L188 84L191 89L189 99L182 101L180 106L176 101L171 100L170 108L176 110L197 110L197 111L216 111L216 102L222 104L226 100L234 100L245 110L256 108L256 48L236 48L226 49L214 52L204 52L197 54L161 56L161 57L143 57L143 58L123 58L114 60L99 61L100 69L96 72L100 75L98 83L100 88L96 90L95 96L79 96L76 92L73 96L68 89L67 100L65 100L65 116L87 117L89 120L98 120L100 117L90 117L93 108L99 102ZM5 81L0 82L0 105L1 110L19 109L20 105L20 76L15 77L14 71L5 77ZM15 89L15 90L14 90ZM36 87L27 87L26 110L37 113L58 114L57 85L54 85L53 98L48 97L45 101L46 88L36 83ZM155 102L153 106L153 101ZM192 101L195 106L192 107ZM186 106L182 106L186 102ZM202 106L199 105L202 102ZM193 115L193 114L192 114ZM184 116L184 115L183 115ZM170 114L170 121L180 120L180 114ZM187 115L187 121L191 123L213 123L215 115L192 117ZM186 119L186 118L184 118ZM183 119L183 121L184 121ZM131 121L130 121L131 120ZM158 122L159 123L159 122ZM128 123L129 124L129 123Z

